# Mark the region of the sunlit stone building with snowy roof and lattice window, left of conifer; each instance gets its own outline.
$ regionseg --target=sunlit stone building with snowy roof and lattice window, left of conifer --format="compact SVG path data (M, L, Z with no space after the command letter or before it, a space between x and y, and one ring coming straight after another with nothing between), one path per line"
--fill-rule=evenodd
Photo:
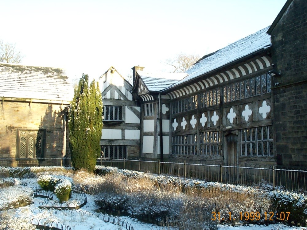
M67 109L72 86L62 69L0 63L2 165L46 165L68 149Z

